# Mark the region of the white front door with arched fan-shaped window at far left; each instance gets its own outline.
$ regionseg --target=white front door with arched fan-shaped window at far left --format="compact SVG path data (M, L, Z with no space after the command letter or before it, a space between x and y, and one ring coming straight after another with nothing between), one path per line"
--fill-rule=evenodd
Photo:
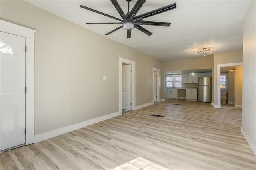
M25 143L24 37L0 32L1 137L0 150Z

